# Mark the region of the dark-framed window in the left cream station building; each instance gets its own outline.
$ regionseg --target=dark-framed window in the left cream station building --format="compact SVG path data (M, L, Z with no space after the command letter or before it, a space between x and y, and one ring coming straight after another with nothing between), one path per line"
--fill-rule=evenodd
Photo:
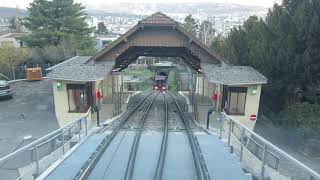
M89 108L89 87L86 84L67 84L69 112L84 113Z

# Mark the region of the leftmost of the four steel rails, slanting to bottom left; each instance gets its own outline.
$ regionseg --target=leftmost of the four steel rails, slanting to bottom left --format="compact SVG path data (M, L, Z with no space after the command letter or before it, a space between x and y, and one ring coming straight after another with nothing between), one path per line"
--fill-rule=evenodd
M129 117L140 107L140 105L147 100L147 98L154 94L155 91L151 91L146 97L144 97L142 100L139 101L139 103L129 112L129 114L121 121L121 123L111 132L109 136L103 139L102 143L98 146L97 150L94 154L91 155L89 160L84 164L84 166L81 168L81 170L78 172L76 177L74 179L76 180L82 180L87 179L98 163L99 159L111 143L111 141L114 139L114 137L118 134L120 129L123 127L123 125L127 122Z

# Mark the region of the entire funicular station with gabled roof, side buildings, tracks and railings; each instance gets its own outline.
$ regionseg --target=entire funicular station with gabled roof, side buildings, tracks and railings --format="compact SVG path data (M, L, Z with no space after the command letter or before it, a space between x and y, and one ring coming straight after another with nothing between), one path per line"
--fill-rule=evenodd
M123 71L139 57L175 61L154 63L154 86L137 92L124 88ZM62 128L0 160L32 155L17 179L320 178L253 132L267 79L226 64L163 13L48 70Z

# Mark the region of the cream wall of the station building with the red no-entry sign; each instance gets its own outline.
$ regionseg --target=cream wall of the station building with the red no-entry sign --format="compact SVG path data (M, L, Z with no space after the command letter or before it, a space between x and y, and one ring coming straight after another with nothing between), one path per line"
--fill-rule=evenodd
M256 94L251 93L251 89L253 86L257 86ZM237 116L230 116L230 117L232 117L234 120L239 121L241 124L243 124L247 128L253 130L256 121L251 121L249 117L250 115L258 116L260 95L261 95L261 85L241 85L236 87L248 87L246 105L245 105L245 115L244 116L237 115Z

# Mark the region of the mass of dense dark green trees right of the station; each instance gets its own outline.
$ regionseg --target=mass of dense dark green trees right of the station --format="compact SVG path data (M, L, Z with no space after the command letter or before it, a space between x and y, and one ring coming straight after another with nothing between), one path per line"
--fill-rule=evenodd
M320 1L284 0L265 20L252 16L211 47L230 63L267 76L262 101L275 111L320 104ZM308 106L308 105L306 105Z

